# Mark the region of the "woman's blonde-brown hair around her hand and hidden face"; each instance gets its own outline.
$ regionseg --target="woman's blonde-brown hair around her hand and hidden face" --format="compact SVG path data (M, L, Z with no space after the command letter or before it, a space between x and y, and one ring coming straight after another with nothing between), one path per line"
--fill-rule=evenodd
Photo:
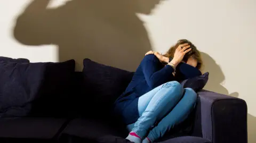
M191 48L191 51L189 51L183 58L183 61L184 62L187 62L188 61L188 58L189 57L193 57L195 60L197 60L197 66L196 68L197 69L201 69L202 66L203 66L203 60L202 60L202 57L201 57L201 54L200 52L197 50L196 46L194 44L192 44L189 40L186 40L186 39L181 39L181 40L178 40L177 44L175 44L174 46L172 46L169 51L167 51L166 54L164 54L165 57L171 57L173 58L174 56L174 53L175 53L175 50L178 48L179 45L181 44L185 44L185 43L188 43L190 45L190 48Z

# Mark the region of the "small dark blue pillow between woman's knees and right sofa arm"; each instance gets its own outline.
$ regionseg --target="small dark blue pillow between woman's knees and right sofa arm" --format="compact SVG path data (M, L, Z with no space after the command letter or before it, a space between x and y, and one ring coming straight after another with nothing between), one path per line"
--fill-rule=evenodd
M194 91L199 91L204 88L209 79L209 72L199 75L198 77L181 81L183 88L192 88Z

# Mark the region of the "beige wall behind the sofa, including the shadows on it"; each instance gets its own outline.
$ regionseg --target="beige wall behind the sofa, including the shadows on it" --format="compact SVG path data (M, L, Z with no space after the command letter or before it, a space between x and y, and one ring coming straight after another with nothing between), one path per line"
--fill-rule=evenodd
M151 48L164 53L189 39L210 72L205 88L246 100L249 141L256 142L256 1L169 0L154 8L159 1L0 1L0 56L74 58L77 70L88 57L134 70Z

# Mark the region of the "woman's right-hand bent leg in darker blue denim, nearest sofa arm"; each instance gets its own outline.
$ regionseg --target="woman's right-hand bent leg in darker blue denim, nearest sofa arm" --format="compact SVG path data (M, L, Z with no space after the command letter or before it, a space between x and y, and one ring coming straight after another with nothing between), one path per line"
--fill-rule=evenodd
M188 115L193 111L197 100L196 92L191 88L185 88L185 94L180 102L167 114L148 134L148 139L154 140L162 137L166 131L170 131L174 127L184 121ZM145 141L147 140L145 139Z

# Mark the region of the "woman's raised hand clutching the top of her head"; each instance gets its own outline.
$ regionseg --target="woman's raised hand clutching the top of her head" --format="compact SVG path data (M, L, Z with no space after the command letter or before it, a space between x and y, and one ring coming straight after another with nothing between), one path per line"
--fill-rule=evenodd
M179 45L178 48L175 50L171 63L177 66L183 60L185 54L191 51L191 48L189 47L190 45L188 45L187 43Z

